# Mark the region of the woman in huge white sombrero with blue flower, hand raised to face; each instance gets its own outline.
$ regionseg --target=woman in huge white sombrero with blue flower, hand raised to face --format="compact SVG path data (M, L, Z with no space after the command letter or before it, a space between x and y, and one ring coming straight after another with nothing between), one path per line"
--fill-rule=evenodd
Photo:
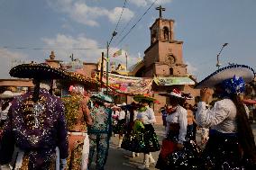
M197 123L210 128L201 169L256 169L255 141L242 103L244 85L253 78L251 67L231 65L218 69L195 86L201 89ZM213 96L219 100L212 109L206 109Z

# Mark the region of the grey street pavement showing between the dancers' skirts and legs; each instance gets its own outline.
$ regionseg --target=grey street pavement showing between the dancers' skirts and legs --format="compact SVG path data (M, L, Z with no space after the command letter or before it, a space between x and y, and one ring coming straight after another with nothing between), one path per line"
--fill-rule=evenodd
M256 140L256 123L251 124L254 139ZM164 127L162 125L155 125L155 131L159 137L160 145L163 138ZM200 141L200 134L197 133L197 142ZM135 170L137 166L142 166L143 154L139 157L132 157L132 152L126 151L122 148L117 148L118 136L112 137L110 142L110 148L108 153L105 170ZM158 160L160 151L151 153L155 161ZM153 165L150 166L151 170L156 170Z

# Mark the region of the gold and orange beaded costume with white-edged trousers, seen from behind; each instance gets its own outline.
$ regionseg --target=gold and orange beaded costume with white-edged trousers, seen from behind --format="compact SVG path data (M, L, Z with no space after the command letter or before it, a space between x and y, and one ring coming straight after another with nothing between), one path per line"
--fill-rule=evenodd
M62 98L65 105L65 116L68 125L69 158L68 169L87 170L89 139L87 124L81 111L81 94L71 94Z

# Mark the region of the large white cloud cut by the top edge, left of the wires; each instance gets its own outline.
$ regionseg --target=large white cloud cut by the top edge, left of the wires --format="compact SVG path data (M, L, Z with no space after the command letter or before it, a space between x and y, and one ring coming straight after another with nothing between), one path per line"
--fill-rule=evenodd
M121 7L115 7L108 10L103 7L88 6L81 0L56 0L47 1L50 7L60 13L67 13L75 22L79 22L89 26L99 26L97 19L99 17L107 17L110 22L117 22L122 11ZM124 9L122 20L129 21L134 13L129 9Z

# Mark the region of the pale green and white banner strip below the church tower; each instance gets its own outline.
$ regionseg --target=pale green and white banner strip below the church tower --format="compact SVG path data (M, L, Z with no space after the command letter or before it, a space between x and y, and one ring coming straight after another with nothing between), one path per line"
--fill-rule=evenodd
M188 76L154 77L157 85L195 85L195 82Z

